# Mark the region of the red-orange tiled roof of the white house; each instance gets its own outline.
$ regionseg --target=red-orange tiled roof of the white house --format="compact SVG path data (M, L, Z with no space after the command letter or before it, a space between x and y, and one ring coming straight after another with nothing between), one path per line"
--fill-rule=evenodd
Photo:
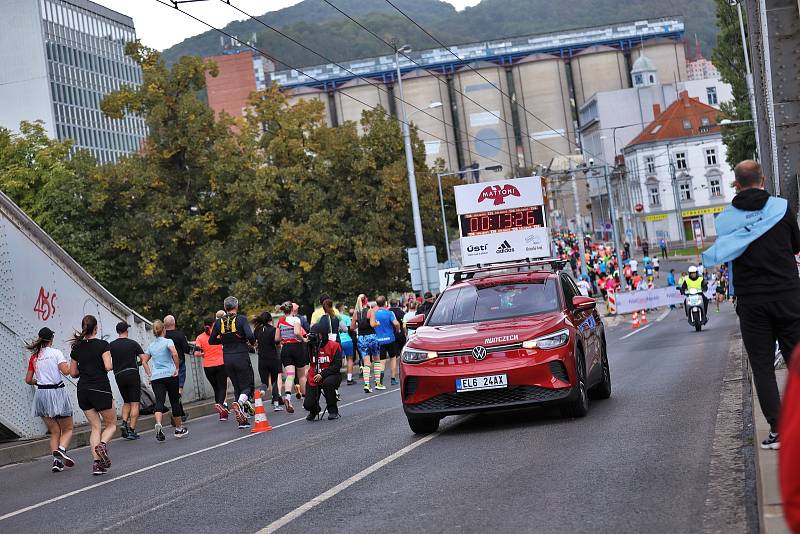
M658 104L653 106L655 120L628 143L628 146L719 133L719 114L718 109L703 104L699 98L690 97L687 91L681 91L678 100L670 104L663 113Z

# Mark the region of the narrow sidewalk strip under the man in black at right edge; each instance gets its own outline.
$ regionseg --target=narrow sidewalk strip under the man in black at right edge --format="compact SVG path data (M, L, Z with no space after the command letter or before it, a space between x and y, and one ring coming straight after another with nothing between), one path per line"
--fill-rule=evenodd
M783 395L786 385L787 372L786 368L775 371L781 395ZM760 531L762 534L790 534L789 527L783 519L781 493L778 486L778 451L764 450L759 446L761 440L769 433L769 425L764 419L764 414L761 413L756 387L752 384L752 374L750 380L753 391L753 420L756 429L753 439L756 441L757 451L755 461Z

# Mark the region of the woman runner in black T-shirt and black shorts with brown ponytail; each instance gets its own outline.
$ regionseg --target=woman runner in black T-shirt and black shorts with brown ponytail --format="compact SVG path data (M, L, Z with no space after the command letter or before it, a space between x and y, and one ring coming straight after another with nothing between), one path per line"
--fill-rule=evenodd
M91 426L92 474L102 475L111 467L108 442L117 429L117 413L108 372L114 367L108 342L97 339L97 319L86 315L81 331L71 341L69 374L78 379L78 406ZM101 425L103 429L101 431Z

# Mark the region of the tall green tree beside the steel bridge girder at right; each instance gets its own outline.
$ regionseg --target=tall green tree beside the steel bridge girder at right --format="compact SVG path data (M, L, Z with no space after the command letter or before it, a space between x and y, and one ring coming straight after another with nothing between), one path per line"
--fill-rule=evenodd
M719 33L711 58L722 75L722 80L730 84L733 89L733 100L723 102L720 111L731 119L749 120L753 116L747 93L739 18L736 8L731 6L728 0L715 1ZM743 159L751 159L756 152L755 130L752 124L724 127L722 142L728 149L727 161L731 167Z

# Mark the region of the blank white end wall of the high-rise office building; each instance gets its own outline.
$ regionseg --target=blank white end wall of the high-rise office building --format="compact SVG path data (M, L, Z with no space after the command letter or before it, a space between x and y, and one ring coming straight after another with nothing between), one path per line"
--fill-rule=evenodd
M39 2L0 0L0 126L42 120L55 137Z

